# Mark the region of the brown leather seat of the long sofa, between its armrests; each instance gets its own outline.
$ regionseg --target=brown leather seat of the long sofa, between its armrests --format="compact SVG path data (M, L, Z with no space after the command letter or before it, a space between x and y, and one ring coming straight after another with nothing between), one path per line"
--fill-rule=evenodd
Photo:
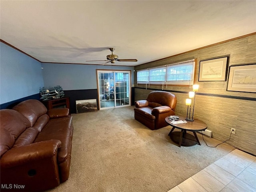
M34 142L45 140L60 140L61 147L58 150L58 163L66 161L72 142L73 126L72 116L50 119L42 131L38 134Z

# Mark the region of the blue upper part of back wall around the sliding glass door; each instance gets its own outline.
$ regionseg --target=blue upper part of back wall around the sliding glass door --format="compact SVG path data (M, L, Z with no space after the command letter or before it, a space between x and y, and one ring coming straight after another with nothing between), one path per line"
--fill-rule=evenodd
M60 85L63 90L97 89L96 69L131 70L134 84L134 67L42 63L42 68L46 88Z

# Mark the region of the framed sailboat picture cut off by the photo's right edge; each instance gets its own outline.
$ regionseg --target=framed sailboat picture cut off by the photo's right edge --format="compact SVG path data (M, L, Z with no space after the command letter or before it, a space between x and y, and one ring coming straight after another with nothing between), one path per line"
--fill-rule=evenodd
M227 91L256 93L256 64L230 66Z

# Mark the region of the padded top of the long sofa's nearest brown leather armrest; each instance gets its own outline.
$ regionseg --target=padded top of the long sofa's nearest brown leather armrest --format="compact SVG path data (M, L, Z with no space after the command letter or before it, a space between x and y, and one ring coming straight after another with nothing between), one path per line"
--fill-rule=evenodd
M1 157L1 168L20 166L56 156L60 146L60 140L47 140L12 148Z

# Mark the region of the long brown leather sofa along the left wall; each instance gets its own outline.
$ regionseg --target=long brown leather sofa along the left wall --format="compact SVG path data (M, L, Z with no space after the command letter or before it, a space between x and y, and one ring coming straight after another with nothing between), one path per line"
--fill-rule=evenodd
M73 124L68 108L26 100L0 110L2 191L43 191L69 177Z

